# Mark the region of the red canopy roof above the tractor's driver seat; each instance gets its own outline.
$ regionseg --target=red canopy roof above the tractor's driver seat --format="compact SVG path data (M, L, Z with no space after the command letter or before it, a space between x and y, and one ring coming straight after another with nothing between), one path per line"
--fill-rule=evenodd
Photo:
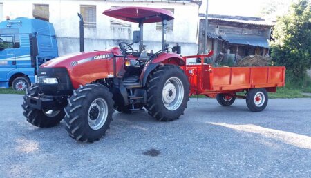
M136 23L155 23L161 22L163 19L167 21L174 19L173 12L160 8L118 7L105 10L103 14Z

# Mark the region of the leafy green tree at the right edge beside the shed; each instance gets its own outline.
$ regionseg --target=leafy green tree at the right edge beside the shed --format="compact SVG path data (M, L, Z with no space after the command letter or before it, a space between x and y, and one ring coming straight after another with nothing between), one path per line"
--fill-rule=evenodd
M311 68L311 11L308 0L290 6L288 14L278 17L270 43L271 56L276 66L286 66L289 79L304 81Z

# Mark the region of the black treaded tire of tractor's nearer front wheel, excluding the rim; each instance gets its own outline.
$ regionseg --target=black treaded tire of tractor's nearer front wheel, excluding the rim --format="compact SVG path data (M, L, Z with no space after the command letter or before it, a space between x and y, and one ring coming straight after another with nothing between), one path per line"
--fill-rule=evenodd
M87 103L92 102L90 99L92 95L103 97L108 105L109 111L104 126L99 130L92 130L88 126ZM90 142L98 141L105 135L109 124L112 121L113 109L113 95L109 89L99 83L88 83L85 86L80 86L77 90L73 90L73 95L68 98L68 105L64 108L66 122L66 130L70 137L77 141Z

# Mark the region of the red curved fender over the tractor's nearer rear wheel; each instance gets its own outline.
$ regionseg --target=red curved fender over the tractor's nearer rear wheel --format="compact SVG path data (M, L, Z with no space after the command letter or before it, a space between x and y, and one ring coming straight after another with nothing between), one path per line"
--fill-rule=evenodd
M155 70L158 66L164 66L165 64L173 64L176 66L185 66L185 60L176 53L162 53L156 59L149 61L142 70L140 75L140 83L142 86L146 86L149 74Z

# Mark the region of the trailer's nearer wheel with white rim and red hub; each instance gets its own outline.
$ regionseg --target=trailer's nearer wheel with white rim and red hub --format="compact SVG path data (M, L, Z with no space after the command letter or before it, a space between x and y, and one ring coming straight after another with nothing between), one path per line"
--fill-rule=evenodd
M249 90L246 95L246 104L249 110L259 112L267 106L268 95L265 88L254 88Z

